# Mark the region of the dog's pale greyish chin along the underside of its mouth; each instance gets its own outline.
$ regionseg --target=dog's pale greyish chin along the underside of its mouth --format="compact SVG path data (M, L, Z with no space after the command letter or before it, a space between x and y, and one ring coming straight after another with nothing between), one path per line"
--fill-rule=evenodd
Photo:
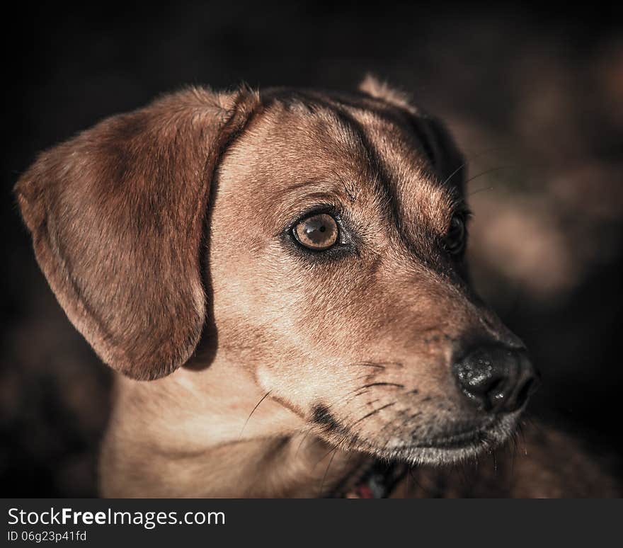
M379 458L412 465L462 462L508 440L515 433L519 415L512 413L481 426L429 439L407 441L396 437L385 443L382 449L370 447L369 450L372 449Z

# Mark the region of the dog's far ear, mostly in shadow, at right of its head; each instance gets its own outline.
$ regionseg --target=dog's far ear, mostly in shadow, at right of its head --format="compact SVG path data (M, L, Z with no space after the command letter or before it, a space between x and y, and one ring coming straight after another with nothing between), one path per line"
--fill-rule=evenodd
M371 74L365 77L359 89L375 99L408 113L413 133L435 173L446 184L463 188L467 171L465 160L450 135L450 131L441 120L413 107L406 93L392 88L387 82L379 81Z

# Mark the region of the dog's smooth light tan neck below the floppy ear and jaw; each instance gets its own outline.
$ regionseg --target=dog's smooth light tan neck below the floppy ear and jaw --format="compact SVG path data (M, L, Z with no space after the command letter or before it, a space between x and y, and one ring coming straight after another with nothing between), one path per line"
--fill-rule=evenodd
M331 496L365 467L264 396L251 374L218 363L154 382L119 378L103 495Z

